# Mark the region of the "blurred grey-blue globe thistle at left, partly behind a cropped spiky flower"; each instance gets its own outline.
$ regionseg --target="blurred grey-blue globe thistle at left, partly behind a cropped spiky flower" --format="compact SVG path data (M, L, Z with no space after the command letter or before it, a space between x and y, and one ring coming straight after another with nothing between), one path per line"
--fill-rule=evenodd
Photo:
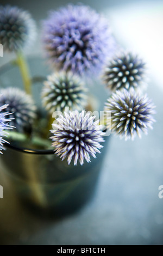
M28 131L31 129L36 118L36 107L30 95L18 88L6 88L0 90L0 105L8 104L6 111L8 118L14 118L10 124L18 131Z

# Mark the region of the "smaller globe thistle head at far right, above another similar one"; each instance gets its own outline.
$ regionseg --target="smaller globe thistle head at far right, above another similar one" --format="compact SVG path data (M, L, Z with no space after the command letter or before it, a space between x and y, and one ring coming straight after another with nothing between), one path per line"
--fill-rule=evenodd
M141 86L145 71L145 63L139 56L131 52L121 52L106 65L103 79L106 86L115 92L122 88Z

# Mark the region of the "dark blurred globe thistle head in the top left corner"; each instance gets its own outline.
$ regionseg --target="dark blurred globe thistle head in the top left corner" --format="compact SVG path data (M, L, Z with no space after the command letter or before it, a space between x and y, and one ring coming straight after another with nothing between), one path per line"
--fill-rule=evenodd
M10 5L0 6L0 43L4 50L22 50L31 44L35 32L35 22L28 11Z

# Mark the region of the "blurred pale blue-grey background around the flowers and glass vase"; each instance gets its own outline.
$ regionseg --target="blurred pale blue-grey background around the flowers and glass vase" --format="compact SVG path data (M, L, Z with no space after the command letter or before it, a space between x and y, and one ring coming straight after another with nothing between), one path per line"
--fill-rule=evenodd
M109 20L118 43L139 53L149 70L147 93L156 105L156 123L148 136L134 142L112 136L103 162L96 196L78 213L44 220L23 209L0 166L0 244L17 245L162 245L163 199L163 2L86 0ZM40 27L49 10L69 1L7 1L30 11ZM71 1L78 3L78 1ZM33 52L42 52L39 36ZM4 54L1 65L12 56Z

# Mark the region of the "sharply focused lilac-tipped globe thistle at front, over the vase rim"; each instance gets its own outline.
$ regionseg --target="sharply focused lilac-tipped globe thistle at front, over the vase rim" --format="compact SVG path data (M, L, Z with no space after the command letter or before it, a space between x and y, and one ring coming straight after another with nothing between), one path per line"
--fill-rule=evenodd
M51 137L55 147L55 154L62 160L67 157L68 164L73 159L74 165L84 163L84 159L90 162L90 155L96 158L98 149L103 146L99 144L104 142L103 132L98 125L99 121L94 121L95 116L90 117L90 113L85 111L65 112L57 119L58 124L54 124L55 130L52 130Z

